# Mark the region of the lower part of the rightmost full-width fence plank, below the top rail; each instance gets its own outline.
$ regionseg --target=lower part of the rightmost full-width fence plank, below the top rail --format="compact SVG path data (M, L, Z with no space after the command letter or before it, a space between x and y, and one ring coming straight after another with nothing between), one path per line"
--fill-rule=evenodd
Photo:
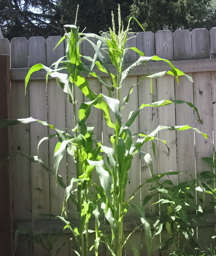
M199 73L194 75L194 104L198 107L200 118L203 120L203 124L199 124L195 121L195 126L202 132L209 135L212 139L212 88L210 82L210 72ZM202 157L212 157L213 155L213 145L209 140L205 140L198 134L195 134L195 154L196 154L196 170L197 174L203 172L204 170L212 171L203 160ZM205 196L205 205L208 205L208 196ZM197 204L203 205L203 195L198 193ZM213 228L214 229L214 228ZM206 245L209 245L210 241L208 235L212 233L211 227L199 227L198 228L198 241L200 248L205 249Z

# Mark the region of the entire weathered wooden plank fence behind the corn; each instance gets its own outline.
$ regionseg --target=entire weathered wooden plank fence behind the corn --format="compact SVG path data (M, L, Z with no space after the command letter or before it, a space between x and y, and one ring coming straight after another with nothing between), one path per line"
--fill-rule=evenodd
M8 99L11 104L8 108L1 105L0 117L5 118L5 113L9 118L25 118L34 117L43 121L48 120L49 124L55 125L60 130L68 130L73 128L72 107L65 101L65 94L56 86L55 80L50 79L48 86L45 82L45 73L40 71L32 75L30 86L27 94L24 96L24 77L32 65L42 63L50 66L54 61L64 55L64 44L58 46L53 51L60 37L48 37L47 40L43 37L32 37L30 40L25 38L14 38L11 42L7 39L0 39L0 64L3 63L3 58L7 59L6 70L1 68L0 75L7 81L9 77L8 70L10 69L11 80L11 97ZM192 32L189 30L178 30L174 33L170 31L158 31L156 34L152 32L140 32L132 37L129 46L136 46L141 51L144 51L146 56L158 55L161 58L166 58L173 61L173 64L193 77L194 84L189 82L185 77L180 77L179 86L175 83L174 78L169 75L157 78L154 81L154 95L150 95L149 81L145 80L135 87L129 103L125 107L126 119L129 111L136 110L142 103L151 103L161 99L183 99L184 101L192 102L198 107L200 117L203 121L200 124L197 121L197 116L194 115L192 108L188 105L170 105L163 108L146 108L140 113L139 118L132 125L132 132L144 132L149 134L159 124L174 126L188 124L197 127L202 132L209 135L209 138L214 141L216 136L215 123L215 102L216 102L216 28L208 31L207 29L195 29ZM87 42L83 44L82 54L92 55L93 50ZM9 67L8 57L11 59L11 67ZM137 59L134 52L127 53L127 63L132 63ZM4 65L4 67L5 67ZM128 89L132 84L138 83L139 77L144 74L160 72L167 70L167 64L151 61L148 67L139 66L132 69L130 77L126 79L122 88L122 97L125 97ZM101 74L102 75L102 74ZM103 74L104 75L104 74ZM8 82L3 83L1 79L1 97L6 98L9 91L4 92L3 88L8 88ZM89 83L96 93L101 92L100 83L94 78L89 78ZM8 94L7 94L8 93ZM82 102L85 99L82 94L77 91L77 100ZM6 102L4 102L6 104ZM102 120L100 111L92 110L91 116L87 121L89 126L95 126L97 140L103 139L104 142L110 136L110 130ZM10 132L11 131L11 132ZM102 131L102 132L101 132ZM1 132L1 131L0 131ZM5 130L4 130L5 132ZM43 136L50 134L51 131L40 124L31 125L16 125L3 134L1 132L1 144L4 145L3 157L6 154L7 139L10 139L9 153L24 153L27 155L37 154L37 143ZM102 138L103 136L103 138ZM156 158L154 159L155 173L164 173L169 170L188 171L188 173L196 177L203 170L212 169L204 163L202 157L212 157L213 144L206 140L200 134L195 134L192 130L188 131L160 131L159 138L165 139L170 147L170 155L165 145L159 144L156 148ZM53 167L53 148L55 141L44 142L40 149L40 156L43 161L52 168ZM151 151L151 145L144 148L145 151ZM1 151L0 151L1 153ZM60 174L65 182L70 181L71 177L75 176L75 166L70 159L63 160L60 167ZM67 164L68 162L68 164ZM9 169L9 174L7 172ZM0 250L1 255L9 255L6 249L5 241L11 241L11 250L14 250L14 232L30 227L33 234L43 234L43 240L57 238L55 248L59 248L62 243L69 240L70 234L64 233L61 236L56 236L58 230L62 229L62 223L56 218L46 214L61 215L63 189L56 187L55 177L48 174L41 168L41 165L30 163L28 160L17 155L11 160L11 167L3 167L0 172L1 195L1 216L7 219L7 223L11 223L13 229L12 239L8 230L10 225L3 225L0 229ZM136 157L134 164L129 172L129 183L127 184L127 195L130 195L140 182L149 178L149 170L143 160ZM178 177L172 176L170 179L174 182L183 182L188 180L188 175L181 173ZM5 181L2 183L2 181ZM9 184L8 184L9 183ZM142 202L143 198L151 184L144 186L141 193L134 198L134 202ZM198 203L199 203L198 198ZM4 200L4 201L3 201ZM3 207L5 208L2 211ZM75 221L77 214L70 207L70 220ZM6 212L7 211L7 212ZM159 214L158 206L152 206L148 203L146 206L146 216L157 216ZM43 214L43 215L42 215ZM1 217L2 221L2 217ZM134 227L139 224L138 216L135 211L130 211L125 220L125 234L129 233ZM198 241L202 249L210 243L215 246L215 241L210 240L210 233L214 231L216 219L214 214L205 216L203 226L197 229ZM104 229L107 230L106 224ZM7 231L7 232L6 232ZM24 231L23 231L24 233ZM51 234L51 235L50 235ZM145 244L143 244L145 234L142 230L136 231L131 236L131 241L138 246L140 255L146 255ZM162 233L163 238L166 232ZM9 242L8 242L9 243ZM159 239L154 240L154 244L159 243ZM71 241L63 246L59 255L75 255L71 248L74 244ZM131 245L126 246L126 255L132 255ZM3 248L3 249L2 249ZM6 253L8 252L8 253ZM105 255L104 249L101 249L101 255ZM35 240L28 240L27 234L19 235L16 255L49 255L41 244ZM55 254L53 254L55 255ZM168 255L168 252L156 251L156 255Z

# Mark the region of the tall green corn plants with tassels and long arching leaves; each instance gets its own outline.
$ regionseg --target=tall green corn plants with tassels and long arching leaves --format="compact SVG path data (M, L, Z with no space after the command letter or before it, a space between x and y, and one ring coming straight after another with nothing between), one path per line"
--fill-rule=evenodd
M25 86L30 80L31 74L40 69L45 69L47 72L46 78L51 76L56 78L58 85L68 95L68 101L72 103L73 112L75 115L75 128L72 133L69 134L65 131L60 131L53 125L47 124L46 121L35 120L34 118L18 119L18 120L2 120L0 121L0 128L20 123L40 122L42 125L48 125L52 130L55 131L54 135L48 135L43 138L38 144L38 148L44 140L52 139L53 136L57 136L58 143L56 144L54 152L54 173L56 180L60 185L65 188L65 198L63 203L63 210L65 212L65 206L68 200L71 200L76 206L78 211L79 225L73 227L70 222L64 217L60 216L66 224L65 228L69 228L75 238L78 251L78 255L89 255L90 250L94 248L95 255L98 255L98 248L100 243L105 243L107 249L111 255L120 256L124 245L129 240L129 236L124 237L124 226L123 220L130 206L136 208L141 215L141 222L146 233L146 247L148 254L151 252L151 227L149 221L146 219L145 214L141 206L131 203L132 198L136 195L139 189L145 184L141 184L139 187L134 189L129 198L125 198L126 185L127 185L127 173L132 165L132 160L136 154L140 154L140 157L144 158L146 163L149 165L151 176L154 177L153 163L149 153L141 151L141 147L144 143L153 143L157 140L161 143L166 144L166 141L158 138L158 132L160 130L187 130L194 129L199 132L205 138L208 138L206 134L203 134L198 129L192 128L188 125L184 126L162 126L159 125L150 134L132 134L130 126L134 122L135 118L138 117L139 112L145 107L164 107L172 103L186 103L194 109L199 118L197 108L190 102L183 100L169 100L164 99L163 101L153 103L143 103L138 110L129 113L127 121L122 122L122 110L129 101L130 94L133 91L134 86L131 86L127 96L121 100L121 89L124 87L124 80L129 75L130 70L136 65L146 65L149 60L166 61L169 64L170 70L160 72L157 74L149 74L141 77L144 79L153 79L161 77L165 74L174 75L176 82L178 82L179 75L185 75L179 69L176 69L169 60L161 59L159 56L146 57L143 52L133 47L130 50L135 51L140 55L140 58L131 64L130 67L124 68L125 54L127 53L126 42L130 33L130 20L124 29L121 21L121 14L119 10L119 27L118 32L115 29L114 16L112 15L113 27L109 29L109 32L98 35L86 35L79 33L75 25L67 25L70 28L70 32L66 32L65 36L62 37L60 44L63 40L67 41L67 55L66 60L63 57L56 61L50 68L43 64L34 65L28 72L25 80ZM94 44L88 36L94 36L97 38L97 44ZM95 58L80 55L80 44L83 40L87 40L95 49ZM111 73L110 67L107 64L107 56L110 59L112 65L114 65L116 72ZM91 61L91 67L87 67L82 58L86 58ZM96 61L96 59L98 59ZM59 65L61 64L61 65ZM96 65L100 72L104 72L109 75L109 81L102 79L97 75L96 71L92 71L92 68ZM95 69L94 69L95 70ZM107 94L100 93L96 94L89 86L87 79L82 76L81 72L85 72L88 75L99 79L102 86L107 89ZM188 77L191 79L190 77ZM110 85L111 82L111 85ZM89 102L81 103L80 108L76 109L76 97L75 87L80 88L82 93L89 98ZM116 97L112 97L112 88L116 89ZM151 92L153 87L151 83ZM112 129L112 136L110 137L110 145L102 144L99 141L94 140L94 128L87 127L86 120L90 115L91 108L95 107L102 111L106 125ZM113 113L113 116L111 115ZM154 148L154 147L153 147ZM153 150L154 151L154 150ZM76 177L73 177L70 184L66 186L63 183L61 176L58 175L58 166L63 158L63 154L69 154L76 163ZM154 153L154 152L153 152ZM40 158L40 155L31 158L36 162L41 162L45 169L52 172ZM96 171L99 178L99 183L94 183L91 180L92 171ZM77 184L77 189L75 189ZM94 186L96 188L95 200L90 199L89 189ZM100 229L99 216L102 209L104 216L110 225L111 235L107 235ZM90 217L95 216L95 230L89 230ZM89 233L95 233L95 243L89 245ZM135 255L138 255L135 252Z

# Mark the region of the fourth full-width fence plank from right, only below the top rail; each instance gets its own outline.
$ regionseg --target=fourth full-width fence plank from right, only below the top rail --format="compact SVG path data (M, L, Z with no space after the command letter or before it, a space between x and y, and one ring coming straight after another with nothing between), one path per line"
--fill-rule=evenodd
M150 103L157 101L156 97L156 79L153 80L153 95L150 94L150 80L144 80L138 86L138 94L139 94L139 106L143 103ZM156 129L158 126L158 115L157 108L154 107L146 107L144 108L139 115L139 132L143 132L148 135L152 131ZM153 160L154 174L159 174L158 169L158 143L155 143L155 156L153 154L153 144L151 141L145 143L141 148L145 153L149 153L151 155L151 159ZM140 175L141 175L141 183L143 183L146 179L151 178L150 170L148 164L144 161L144 159L140 158ZM153 186L152 183L145 183L141 188L141 203L146 196L151 195L149 189ZM158 216L159 215L159 204L152 205L152 203L159 200L159 196L155 196L152 200L150 200L145 205L145 216ZM145 233L142 233L142 241L145 241ZM157 235L153 239L152 248L160 243L160 235ZM159 250L152 252L152 256L158 256ZM147 255L146 245L143 245L143 255Z

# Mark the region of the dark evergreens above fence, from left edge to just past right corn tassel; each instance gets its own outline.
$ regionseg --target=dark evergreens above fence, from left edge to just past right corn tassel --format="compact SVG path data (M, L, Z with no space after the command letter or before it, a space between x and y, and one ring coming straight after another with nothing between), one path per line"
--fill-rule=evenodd
M111 11L117 12L121 4L124 17L130 15L132 0L1 0L0 27L4 37L43 36L63 34L63 25L75 22L80 31L107 31L111 26Z

